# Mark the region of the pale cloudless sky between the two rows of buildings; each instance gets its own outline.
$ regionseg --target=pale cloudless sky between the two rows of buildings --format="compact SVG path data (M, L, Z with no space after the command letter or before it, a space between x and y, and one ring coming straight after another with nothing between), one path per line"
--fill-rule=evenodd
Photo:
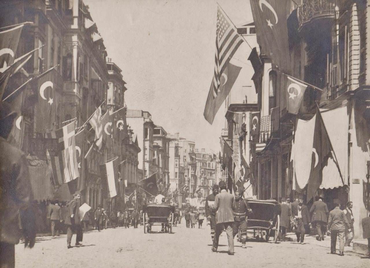
M167 133L217 153L225 126L203 110L213 78L217 3L238 26L253 21L249 0L84 0L122 69L128 109L149 111ZM135 132L135 130L134 130Z

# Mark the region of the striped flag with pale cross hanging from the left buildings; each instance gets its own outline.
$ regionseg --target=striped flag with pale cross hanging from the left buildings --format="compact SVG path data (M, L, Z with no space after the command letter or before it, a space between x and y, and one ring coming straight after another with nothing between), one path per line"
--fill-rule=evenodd
M75 122L71 122L56 131L46 133L48 138L58 139L60 151L51 156L54 185L70 182L78 176L77 154L75 148Z

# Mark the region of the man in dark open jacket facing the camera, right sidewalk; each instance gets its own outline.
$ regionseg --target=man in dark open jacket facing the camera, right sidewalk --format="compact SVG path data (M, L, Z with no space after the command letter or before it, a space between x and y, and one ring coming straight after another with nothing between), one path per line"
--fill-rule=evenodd
M303 196L298 198L297 206L292 205L292 215L297 220L297 242L303 244L303 241L305 240L306 227L311 222L308 208L306 205L303 205Z

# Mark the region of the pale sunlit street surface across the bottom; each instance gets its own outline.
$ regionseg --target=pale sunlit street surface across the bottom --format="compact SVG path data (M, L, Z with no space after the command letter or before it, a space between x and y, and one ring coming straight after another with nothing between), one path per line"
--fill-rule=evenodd
M152 230L160 228L154 226ZM343 257L329 254L330 248L314 244L313 237L307 237L303 245L250 239L248 248L241 248L235 238L235 255L230 256L225 232L220 237L219 252L215 253L211 251L209 226L187 229L184 220L172 231L144 234L142 226L89 231L84 233L83 245L71 249L67 249L65 235L38 237L31 250L24 249L23 244L16 245L16 267L370 267L370 259L353 252L346 251ZM326 240L330 242L330 237Z

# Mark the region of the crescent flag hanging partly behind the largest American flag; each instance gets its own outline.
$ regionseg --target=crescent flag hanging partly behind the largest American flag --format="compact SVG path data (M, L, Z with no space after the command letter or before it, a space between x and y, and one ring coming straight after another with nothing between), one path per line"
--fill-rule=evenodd
M227 64L225 71L223 71L223 74L221 75L221 84L219 86L220 92L217 96L214 96L213 94L214 90L212 82L203 113L204 118L209 122L209 124L213 123L213 119L215 118L218 109L220 109L221 104L229 95L241 69L241 67L235 66L232 63Z

